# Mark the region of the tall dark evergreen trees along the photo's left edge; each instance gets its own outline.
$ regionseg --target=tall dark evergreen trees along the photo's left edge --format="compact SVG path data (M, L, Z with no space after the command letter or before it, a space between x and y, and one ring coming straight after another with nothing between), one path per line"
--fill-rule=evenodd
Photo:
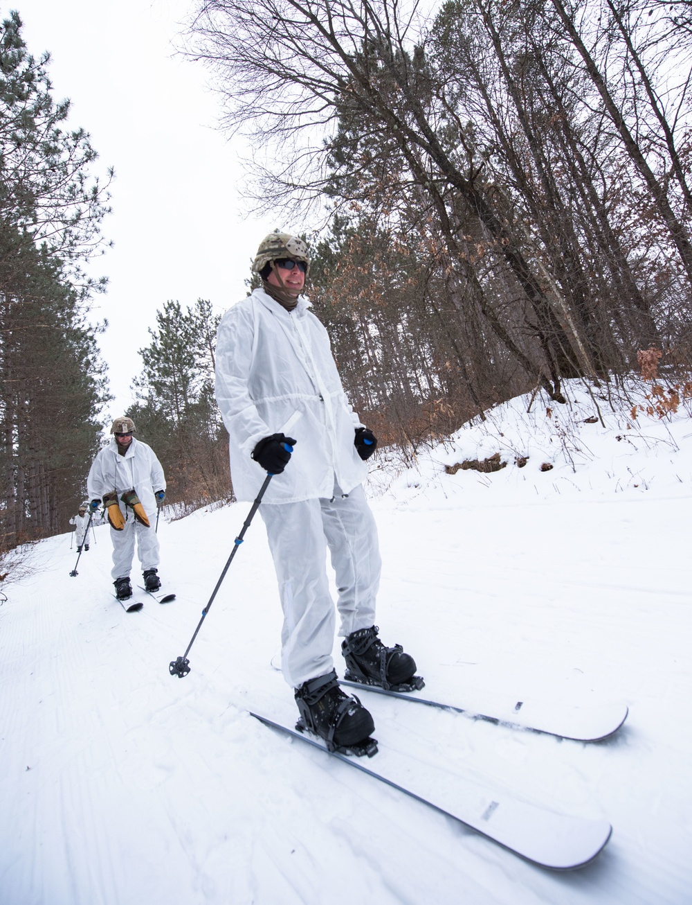
M108 191L21 28L14 12L0 27L0 557L67 528L108 401L87 322L105 281L80 270L103 244Z

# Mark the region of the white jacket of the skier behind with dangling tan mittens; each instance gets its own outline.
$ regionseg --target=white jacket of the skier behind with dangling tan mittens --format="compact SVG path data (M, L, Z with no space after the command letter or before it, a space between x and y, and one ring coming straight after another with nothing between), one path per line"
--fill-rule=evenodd
M120 500L125 491L135 490L142 501L149 521L156 518L154 491L164 491L166 481L161 462L151 446L136 440L130 441L125 455L117 452L116 438L111 437L108 446L98 452L89 470L87 491L89 500L101 500L106 493L117 491L120 511L126 516L125 503ZM131 514L131 513L130 513Z

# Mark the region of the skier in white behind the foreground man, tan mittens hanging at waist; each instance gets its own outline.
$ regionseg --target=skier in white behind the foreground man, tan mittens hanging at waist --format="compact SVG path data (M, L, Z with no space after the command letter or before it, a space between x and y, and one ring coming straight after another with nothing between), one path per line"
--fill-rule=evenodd
M146 590L161 587L154 521L165 497L164 469L154 450L132 435L135 430L131 418L116 418L110 428L110 443L98 452L87 479L91 510L95 512L103 502L110 523L111 577L118 600L132 596L130 570L135 542Z

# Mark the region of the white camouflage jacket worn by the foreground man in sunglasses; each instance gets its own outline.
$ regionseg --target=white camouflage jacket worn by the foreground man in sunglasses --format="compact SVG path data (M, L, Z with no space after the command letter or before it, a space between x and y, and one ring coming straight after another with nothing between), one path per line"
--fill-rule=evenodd
M264 502L329 499L334 479L348 493L368 474L353 444L355 428L364 425L343 392L327 331L309 306L301 296L289 312L256 289L221 319L216 399L238 500L254 500L267 477L250 453L272 433L293 437L295 452L269 483Z

